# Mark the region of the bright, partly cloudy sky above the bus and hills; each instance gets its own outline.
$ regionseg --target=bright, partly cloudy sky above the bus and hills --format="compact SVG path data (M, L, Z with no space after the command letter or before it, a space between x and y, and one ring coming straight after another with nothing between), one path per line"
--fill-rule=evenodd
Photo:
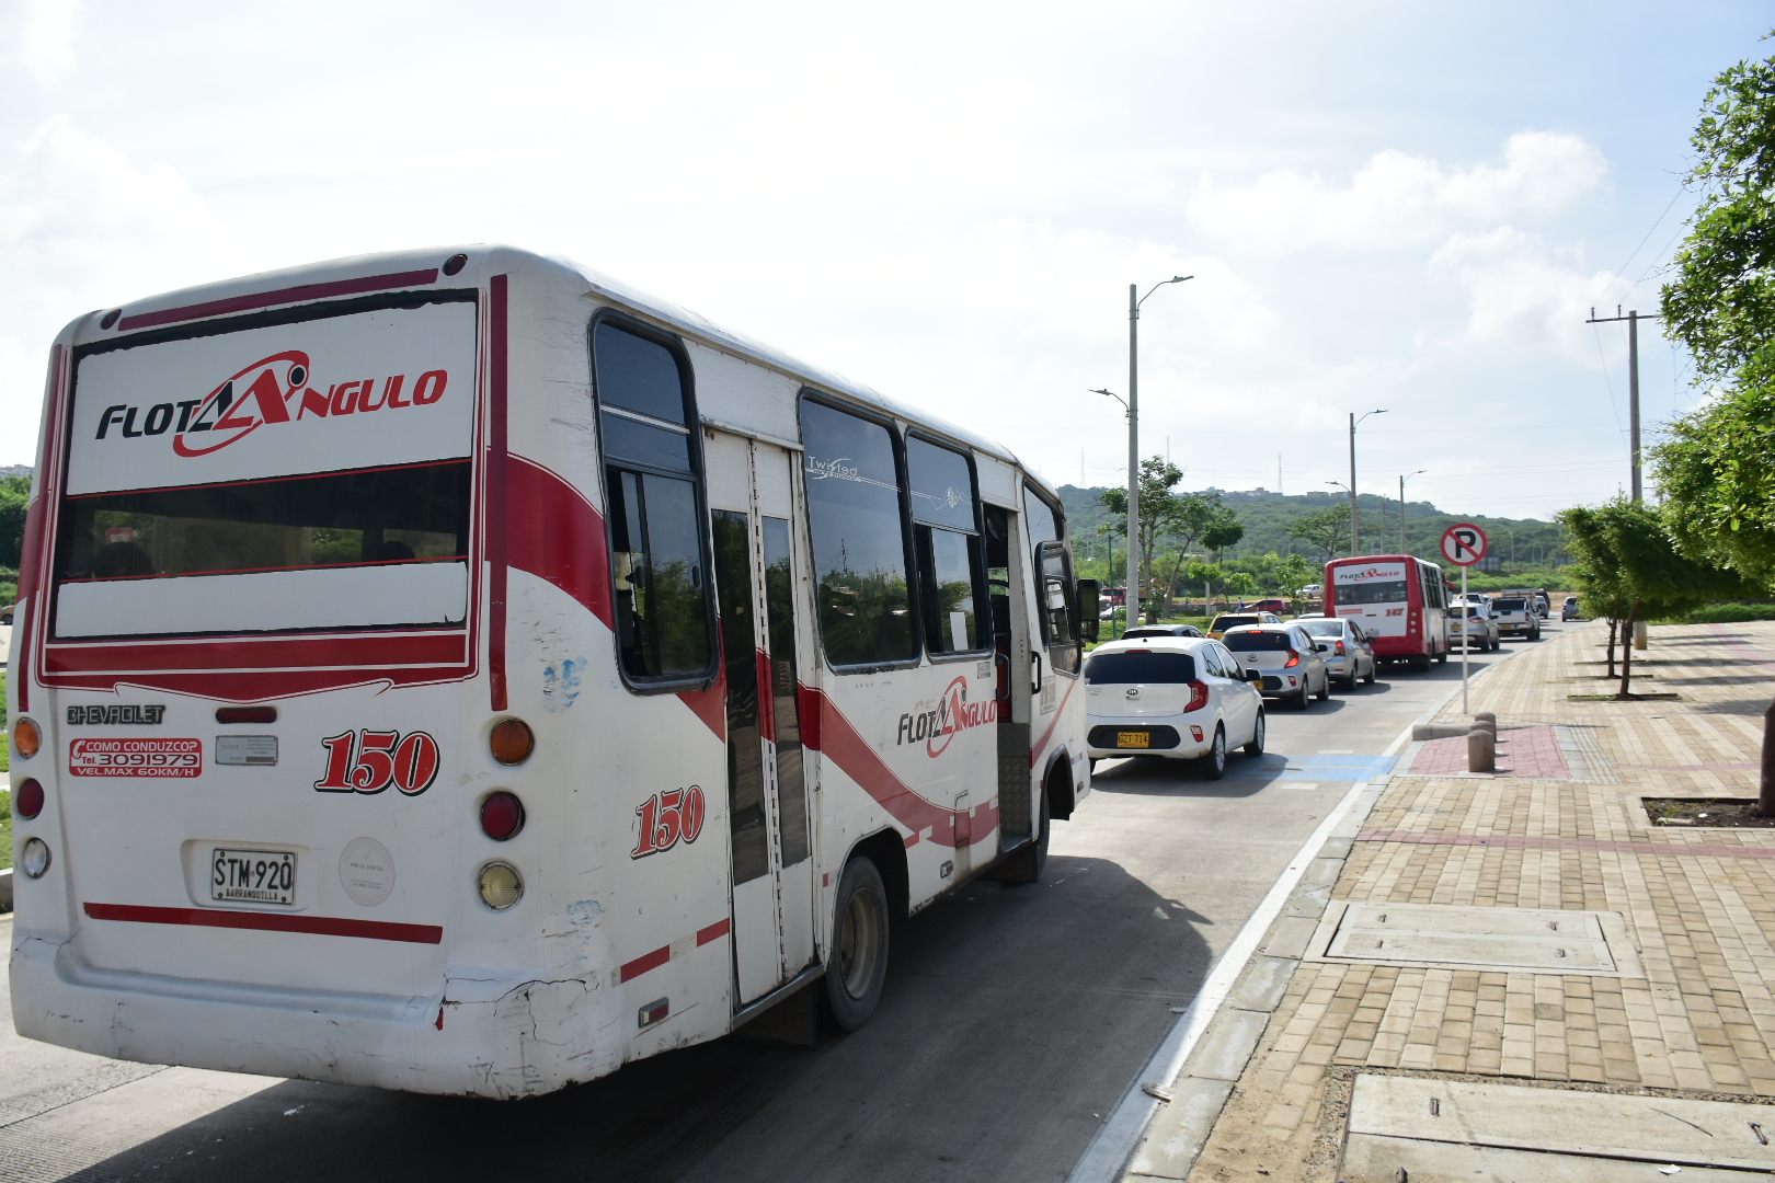
M75 316L564 254L1014 449L1548 518L1628 482L1709 80L1770 4L0 0L0 465ZM1702 390L1640 333L1647 440Z

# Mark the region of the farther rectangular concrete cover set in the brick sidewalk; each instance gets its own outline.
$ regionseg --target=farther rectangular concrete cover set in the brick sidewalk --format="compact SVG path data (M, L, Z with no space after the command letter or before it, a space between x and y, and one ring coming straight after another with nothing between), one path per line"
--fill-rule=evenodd
M1314 933L1308 960L1642 977L1619 912L1333 905Z

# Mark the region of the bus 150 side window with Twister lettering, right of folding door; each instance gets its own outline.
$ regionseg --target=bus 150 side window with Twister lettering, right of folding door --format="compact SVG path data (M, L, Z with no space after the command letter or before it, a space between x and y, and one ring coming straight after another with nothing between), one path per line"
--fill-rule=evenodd
M918 660L895 433L801 401L820 639L834 667Z

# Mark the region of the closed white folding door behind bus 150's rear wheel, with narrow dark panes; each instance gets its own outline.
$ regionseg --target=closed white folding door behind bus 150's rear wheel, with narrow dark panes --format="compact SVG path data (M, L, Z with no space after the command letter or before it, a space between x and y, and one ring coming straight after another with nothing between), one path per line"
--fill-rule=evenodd
M813 858L802 766L793 458L726 433L706 440L715 601L728 686L728 825L737 1006L813 960Z

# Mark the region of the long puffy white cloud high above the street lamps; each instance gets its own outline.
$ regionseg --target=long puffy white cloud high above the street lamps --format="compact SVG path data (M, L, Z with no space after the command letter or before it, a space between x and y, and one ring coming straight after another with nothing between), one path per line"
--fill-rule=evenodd
M1292 168L1248 186L1203 181L1189 215L1257 250L1399 250L1454 229L1558 213L1594 193L1606 172L1601 151L1582 137L1518 131L1503 144L1502 165L1445 167L1388 149L1344 188Z

